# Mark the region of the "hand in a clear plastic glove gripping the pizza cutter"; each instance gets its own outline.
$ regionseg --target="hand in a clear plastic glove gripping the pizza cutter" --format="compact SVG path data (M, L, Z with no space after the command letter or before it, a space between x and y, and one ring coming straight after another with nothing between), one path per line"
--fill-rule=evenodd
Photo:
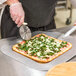
M25 13L20 2L10 5L10 15L18 27L23 24Z

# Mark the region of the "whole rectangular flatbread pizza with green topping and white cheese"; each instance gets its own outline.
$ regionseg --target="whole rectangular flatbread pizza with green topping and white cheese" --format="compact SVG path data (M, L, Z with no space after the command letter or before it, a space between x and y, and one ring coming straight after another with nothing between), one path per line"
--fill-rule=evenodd
M45 34L35 35L30 40L24 40L12 47L13 51L40 63L50 62L71 48L71 43Z

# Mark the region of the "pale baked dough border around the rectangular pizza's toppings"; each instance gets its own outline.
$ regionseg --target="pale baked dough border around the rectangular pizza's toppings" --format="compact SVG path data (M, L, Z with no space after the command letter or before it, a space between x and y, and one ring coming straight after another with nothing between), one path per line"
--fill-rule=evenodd
M40 35L41 35L41 34L35 35L34 37L32 37L32 39L34 39L35 37L39 37ZM47 36L47 35L45 35L45 34L42 34L42 35L44 35L45 37L48 37L48 38L55 39L55 38L50 37L50 36ZM58 39L55 39L55 40L57 40L58 42L62 42L61 40L58 40ZM13 51L15 51L15 52L17 52L17 53L20 53L20 54L22 54L22 55L24 55L24 56L26 56L26 57L28 57L28 58L30 58L30 59L32 59L32 60L35 60L35 61L37 61L37 62L40 62L40 63L50 62L50 61L52 61L53 59L57 58L58 56L62 55L63 53L67 52L69 49L72 48L72 44L68 42L68 46L67 46L67 47L62 48L60 52L54 54L53 56L49 56L49 59L41 59L41 58L38 58L38 57L35 57L35 56L28 55L25 51L19 50L19 49L17 48L17 46L18 46L18 44L15 44L15 45L12 47Z

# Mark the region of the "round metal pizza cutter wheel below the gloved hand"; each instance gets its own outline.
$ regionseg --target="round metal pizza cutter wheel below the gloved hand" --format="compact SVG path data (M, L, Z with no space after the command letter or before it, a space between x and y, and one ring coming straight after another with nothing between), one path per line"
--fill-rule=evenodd
M23 40L29 40L31 38L31 30L27 25L28 23L24 22L19 28L19 33Z

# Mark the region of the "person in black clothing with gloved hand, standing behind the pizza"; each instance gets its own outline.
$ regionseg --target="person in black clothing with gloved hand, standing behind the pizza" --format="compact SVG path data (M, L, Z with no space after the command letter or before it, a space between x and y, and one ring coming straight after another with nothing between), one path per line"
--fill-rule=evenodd
M1 20L2 38L19 36L19 27L23 22L28 23L32 32L56 28L54 16L57 0L4 1L1 3L7 4L7 6Z

